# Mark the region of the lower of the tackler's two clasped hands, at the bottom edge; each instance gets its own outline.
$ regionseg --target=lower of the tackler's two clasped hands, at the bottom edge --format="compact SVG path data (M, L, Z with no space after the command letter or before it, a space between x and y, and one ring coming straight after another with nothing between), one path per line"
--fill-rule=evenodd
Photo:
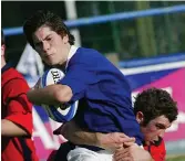
M144 150L143 148L138 147L136 143L133 146L116 150L113 155L114 161L153 161L151 154Z

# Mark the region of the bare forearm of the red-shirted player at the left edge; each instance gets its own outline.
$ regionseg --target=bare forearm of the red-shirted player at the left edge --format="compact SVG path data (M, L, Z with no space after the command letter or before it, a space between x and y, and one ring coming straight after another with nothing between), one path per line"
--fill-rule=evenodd
M30 136L23 128L13 124L10 120L1 120L1 136L2 137L28 137Z

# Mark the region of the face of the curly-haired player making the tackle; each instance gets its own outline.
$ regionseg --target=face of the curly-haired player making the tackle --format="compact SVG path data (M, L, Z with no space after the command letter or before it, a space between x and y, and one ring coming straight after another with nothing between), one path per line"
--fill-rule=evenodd
M145 142L158 141L158 138L163 138L165 130L169 128L171 125L165 116L160 116L151 120L145 127L141 126Z

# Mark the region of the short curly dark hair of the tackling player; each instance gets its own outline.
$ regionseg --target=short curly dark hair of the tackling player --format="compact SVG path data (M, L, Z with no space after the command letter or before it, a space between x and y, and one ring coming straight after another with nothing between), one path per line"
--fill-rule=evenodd
M144 115L143 126L163 115L172 122L178 114L176 101L166 90L158 88L148 88L136 96L134 103L135 115L137 111L142 111Z

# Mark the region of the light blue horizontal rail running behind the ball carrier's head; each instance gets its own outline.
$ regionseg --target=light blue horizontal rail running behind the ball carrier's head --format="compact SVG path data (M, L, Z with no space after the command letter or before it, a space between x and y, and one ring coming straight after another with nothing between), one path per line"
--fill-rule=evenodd
M65 21L65 24L69 28L76 28L76 26L90 25L90 24L96 24L96 23L100 24L100 23L105 23L110 21L120 21L120 20L126 20L126 19L135 19L135 18L158 15L158 14L166 14L166 13L174 13L174 12L185 12L185 4L167 7L167 8L148 9L148 10L142 10L142 11L99 15L94 18L82 18L78 20ZM8 36L8 35L22 34L23 30L22 30L22 26L18 26L18 28L4 29L3 32L4 32L4 35Z

